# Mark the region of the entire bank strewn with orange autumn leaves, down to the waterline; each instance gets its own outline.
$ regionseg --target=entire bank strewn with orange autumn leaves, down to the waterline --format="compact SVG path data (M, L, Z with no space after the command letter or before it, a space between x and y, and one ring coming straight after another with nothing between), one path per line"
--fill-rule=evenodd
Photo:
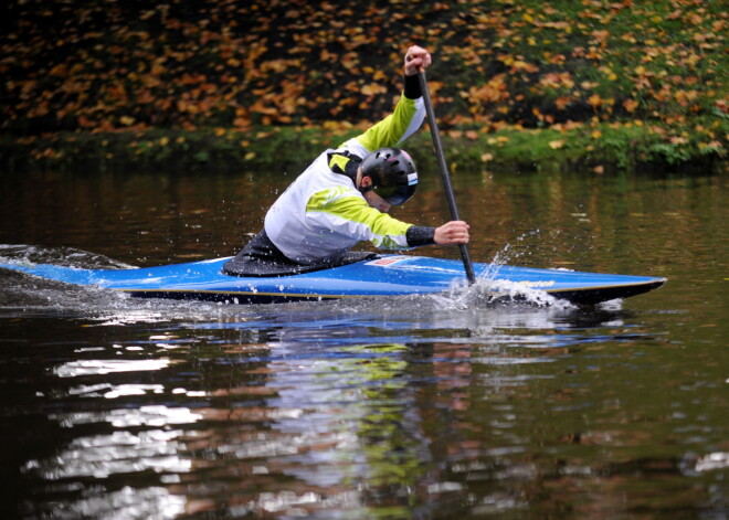
M463 160L726 156L721 1L13 0L7 10L0 157L13 168L265 163L286 145L336 144L391 109L412 43L434 55L432 94Z

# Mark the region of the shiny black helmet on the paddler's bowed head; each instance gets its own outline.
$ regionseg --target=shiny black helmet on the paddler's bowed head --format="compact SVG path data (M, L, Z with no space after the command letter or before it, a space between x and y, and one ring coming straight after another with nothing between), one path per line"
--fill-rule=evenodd
M372 179L374 193L392 205L400 205L415 193L418 171L406 151L380 148L362 161L362 176Z

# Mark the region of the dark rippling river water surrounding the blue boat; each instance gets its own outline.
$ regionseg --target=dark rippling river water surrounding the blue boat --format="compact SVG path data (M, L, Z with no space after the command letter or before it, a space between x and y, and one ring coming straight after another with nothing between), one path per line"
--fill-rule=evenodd
M442 190L423 177L393 214L436 224ZM457 296L220 306L0 269L3 509L729 517L727 171L454 177L474 259L667 285L590 309ZM228 256L290 180L3 174L0 262Z

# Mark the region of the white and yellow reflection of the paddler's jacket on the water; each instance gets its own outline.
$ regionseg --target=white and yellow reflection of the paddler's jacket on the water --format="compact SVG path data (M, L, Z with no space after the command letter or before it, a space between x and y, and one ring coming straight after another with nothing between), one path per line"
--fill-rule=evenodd
M290 514L359 508L383 488L405 489L419 480L425 450L422 441L411 438L418 429L414 403L401 394L408 385L408 347L353 346L324 357L315 354L320 348L277 343L265 369L249 371L265 375L260 384L243 378L241 385L215 392L234 399L233 407L199 411L205 421L219 423L204 439L208 460L225 465L232 459L237 471L250 475L228 488L233 510ZM263 350L258 347L258 355L250 359L254 367ZM243 346L228 353L252 351ZM244 404L245 396L265 401ZM251 494L257 487L251 478L265 481L265 491Z

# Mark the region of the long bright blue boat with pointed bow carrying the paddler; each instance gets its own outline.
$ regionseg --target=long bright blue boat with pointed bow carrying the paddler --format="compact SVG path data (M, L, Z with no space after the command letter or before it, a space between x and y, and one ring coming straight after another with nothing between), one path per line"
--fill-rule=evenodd
M382 255L374 258L286 276L230 276L230 257L134 269L80 269L50 264L0 264L43 278L122 290L137 297L264 304L336 298L444 293L466 285L463 264L424 256ZM578 305L594 305L647 293L666 278L537 269L473 264L489 290L514 296L532 289Z

